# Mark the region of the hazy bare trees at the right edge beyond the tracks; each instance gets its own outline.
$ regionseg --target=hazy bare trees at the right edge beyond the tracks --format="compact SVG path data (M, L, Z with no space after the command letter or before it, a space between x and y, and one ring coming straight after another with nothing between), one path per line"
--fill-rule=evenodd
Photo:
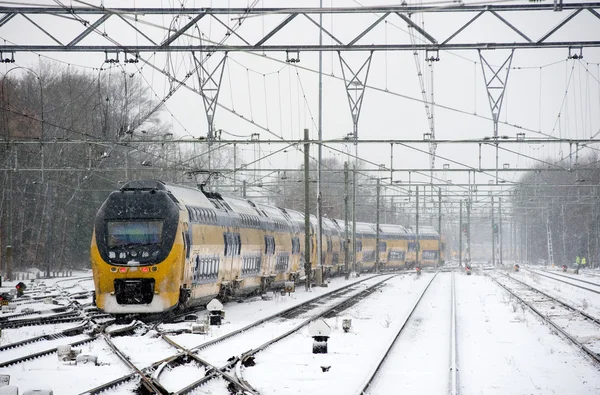
M586 150L590 151L590 150ZM581 155L581 154L579 154ZM537 262L573 264L577 256L598 265L600 257L600 155L546 160L549 165L525 174L514 190L517 256Z

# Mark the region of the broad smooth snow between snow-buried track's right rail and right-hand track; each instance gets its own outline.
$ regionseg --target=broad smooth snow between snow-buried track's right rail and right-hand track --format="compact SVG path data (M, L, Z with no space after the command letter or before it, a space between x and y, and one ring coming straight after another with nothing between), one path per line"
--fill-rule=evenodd
M598 368L490 278L456 286L461 394L600 393Z

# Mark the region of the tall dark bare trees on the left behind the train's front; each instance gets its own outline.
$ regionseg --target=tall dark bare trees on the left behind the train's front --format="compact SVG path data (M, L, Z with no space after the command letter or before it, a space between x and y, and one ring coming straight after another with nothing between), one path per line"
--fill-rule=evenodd
M0 101L0 259L12 245L14 269L89 267L110 191L135 178L177 181L206 161L205 144L163 144L174 136L159 103L120 65L17 66L2 75ZM226 165L230 153L219 154Z

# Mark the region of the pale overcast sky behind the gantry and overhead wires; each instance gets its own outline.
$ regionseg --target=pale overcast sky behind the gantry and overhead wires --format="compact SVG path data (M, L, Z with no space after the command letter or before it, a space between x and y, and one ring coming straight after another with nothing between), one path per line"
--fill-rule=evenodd
M31 4L56 5L53 1L30 0ZM411 4L419 4L410 2ZM465 2L466 4L471 2ZM515 3L515 2L511 2ZM519 3L519 2L516 2ZM522 1L521 3L526 3ZM78 1L63 1L68 6L83 5ZM98 1L90 0L89 4L103 5L105 7L248 7L251 1ZM357 1L323 1L324 7L343 6L368 6L382 5L384 1L364 0ZM388 4L395 4L390 2ZM423 4L423 3L421 3ZM480 4L479 2L477 4ZM255 7L318 7L318 1L257 1ZM556 23L568 15L564 12L544 12L536 17L531 14L527 20L522 20L522 15L511 14L506 18L523 28L524 33L532 38L539 38L548 32ZM449 15L446 13L413 15L413 20L430 31L434 37L447 37L464 23L473 14ZM231 15L229 24L237 23L239 15ZM356 31L352 26L368 26L379 15L344 15L325 16L323 23L326 29L338 35L342 41L352 39ZM38 16L35 18L40 25L50 23L49 17ZM96 17L90 17L94 20ZM245 38L257 40L263 32L268 32L284 17L279 15L265 15L247 18L239 28L240 34ZM56 18L51 19L56 23ZM181 27L187 23L184 17L169 19L167 17L140 16L135 25L143 30L157 42L166 36L165 28ZM410 43L407 25L397 16L389 16L387 23L380 24L372 32L361 39L361 43ZM101 25L101 29L117 42L125 40L124 34L130 34L131 29L125 29L124 23L118 18L111 18ZM199 23L203 40L221 41L225 30L218 26L214 20L203 19ZM10 28L9 28L10 27ZM60 28L46 25L58 38L67 40L77 32L82 31L81 24L65 20ZM25 30L27 29L27 30ZM302 35L295 34L302 31ZM195 37L182 37L182 44L198 44L197 31L190 31ZM508 29L499 20L490 15L479 18L462 33L456 40L470 42L484 42L493 40L502 35L505 40L514 37L515 42L522 39ZM22 17L17 16L2 30L0 36L7 43L26 42L48 43L48 38L43 37L39 31L31 29ZM23 38L25 36L25 38ZM508 38L507 38L508 37ZM600 37L600 20L590 13L581 13L565 26L564 31L557 33L556 40L569 39L597 39ZM129 37L128 39L131 39ZM91 34L81 44L105 43L105 39L97 34ZM143 37L136 34L136 42L147 43ZM237 41L236 41L237 40ZM318 40L318 30L310 22L297 18L289 26L273 38L271 44L300 44L314 43ZM419 40L419 39L417 39ZM255 42L254 41L254 42ZM330 44L331 39L324 37L324 44ZM239 44L235 37L230 37L229 44ZM485 51L484 55L491 64L500 65L509 55L510 51L497 50ZM500 116L500 135L514 137L522 131L514 125L519 125L526 130L528 137L554 136L570 138L587 138L600 130L600 51L585 48L582 60L567 60L566 49L547 50L517 50L515 51L510 77L507 84L506 97ZM104 54L65 54L45 53L50 57L72 65L72 67L102 66ZM193 60L188 53L143 54L159 70L144 66L143 63L125 65L127 72L139 73L155 91L157 98L162 99L168 92L170 84L165 73L171 73L178 79L193 67ZM365 53L345 54L345 59L357 67L365 59ZM422 61L420 64L427 97L430 96L431 81L430 68ZM479 56L476 51L454 51L439 54L440 61L433 65L434 101L441 107L435 107L435 133L438 139L464 139L482 138L491 136L493 126L490 114L487 93ZM220 59L215 56L211 59L214 63ZM223 138L248 137L253 133L260 133L261 139L280 136L285 139L298 139L302 137L303 129L309 128L311 137L317 137L318 121L318 68L317 53L301 53L301 62L294 65L285 62L285 53L230 53L227 67L223 76L221 96L219 103L222 105L217 110L215 127L223 129L226 133ZM18 53L17 65L32 66L38 61L36 54ZM209 63L210 64L210 63ZM14 64L3 64L2 71L13 67ZM296 67L298 66L298 67ZM587 70L586 70L587 69ZM110 71L111 70L111 71ZM104 71L114 73L118 78L120 71L112 68ZM342 73L337 53L324 53L323 55L323 138L340 138L352 132L352 121ZM198 81L190 78L188 84L197 88ZM424 133L429 132L425 105L421 101L421 85L417 76L417 67L411 51L403 52L376 52L373 55L371 72L368 85L377 89L367 89L364 104L360 115L359 139L420 139ZM387 92L386 92L387 90ZM408 99L414 98L415 100ZM232 111L235 110L235 114ZM560 117L559 117L560 114ZM241 118L243 115L243 118ZM181 88L166 102L165 116L172 124L174 133L178 136L191 135L194 137L205 136L207 123L204 114L202 99L191 90ZM253 122L249 122L253 121ZM259 127L260 126L260 127ZM262 127L262 128L261 128ZM268 128L272 133L265 131ZM540 131L536 134L532 131ZM341 145L335 146L344 150ZM259 149L247 147L244 149L244 159L249 162L256 155L267 154L282 148L279 145L268 146L261 144ZM426 145L416 148L427 151ZM518 153L535 158L559 158L568 154L568 145L510 145L507 148ZM259 151L260 150L260 151ZM354 152L354 147L349 145L346 150ZM390 166L390 146L360 145L359 156L372 163ZM478 164L478 150L476 145L457 146L440 145L437 148L439 157L446 157L452 161L470 166ZM323 155L337 156L344 160L339 152L324 148ZM483 167L495 166L495 153L492 147L484 148ZM262 168L297 167L301 163L301 154L294 150L276 155L260 163ZM520 157L505 151L500 152L500 164L510 163L511 167L527 167L535 161ZM436 166L441 167L448 160L438 158ZM367 165L367 167L371 167ZM396 146L394 148L394 168L427 168L429 157L408 147ZM451 167L458 167L451 164ZM467 176L437 173L440 178L452 179L454 182L466 181ZM514 180L518 174L503 174L503 177ZM406 181L407 176L397 174L396 179ZM413 181L426 177L413 176ZM490 177L478 175L479 182L487 182Z

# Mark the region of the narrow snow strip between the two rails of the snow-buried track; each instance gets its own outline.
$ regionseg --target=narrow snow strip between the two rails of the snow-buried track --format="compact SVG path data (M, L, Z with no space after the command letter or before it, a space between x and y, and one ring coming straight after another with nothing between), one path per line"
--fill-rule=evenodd
M450 382L451 273L440 273L383 363L369 394L445 394Z

